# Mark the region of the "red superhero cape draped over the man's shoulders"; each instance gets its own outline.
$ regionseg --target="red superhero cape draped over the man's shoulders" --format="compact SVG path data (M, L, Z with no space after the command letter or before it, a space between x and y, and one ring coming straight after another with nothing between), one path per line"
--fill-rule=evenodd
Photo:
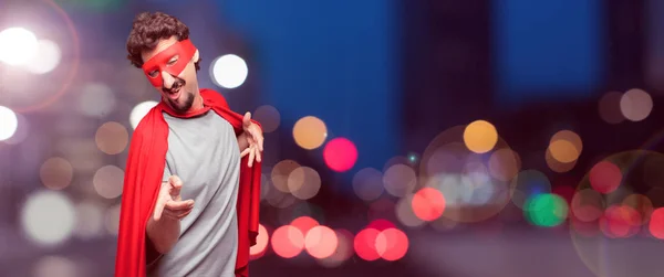
M124 178L115 277L145 277L146 234L145 226L162 184L166 151L168 150L168 125L163 113L176 117L193 117L212 109L234 127L236 135L242 132L242 115L229 109L226 99L210 89L201 89L203 110L177 115L163 102L152 108L134 131ZM256 121L253 121L256 122ZM258 124L258 122L256 122ZM238 191L238 257L236 276L249 276L249 247L258 235L258 210L260 204L260 162L247 166L248 157L241 159Z

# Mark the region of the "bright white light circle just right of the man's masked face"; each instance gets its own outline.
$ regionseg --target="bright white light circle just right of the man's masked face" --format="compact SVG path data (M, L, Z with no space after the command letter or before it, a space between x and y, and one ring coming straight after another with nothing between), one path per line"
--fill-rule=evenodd
M225 88L241 86L248 73L247 63L237 55L227 54L212 61L211 77L218 86Z

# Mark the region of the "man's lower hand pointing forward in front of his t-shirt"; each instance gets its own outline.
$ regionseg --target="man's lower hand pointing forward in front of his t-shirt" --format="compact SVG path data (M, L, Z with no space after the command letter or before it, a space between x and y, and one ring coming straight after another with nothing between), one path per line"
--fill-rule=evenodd
M162 183L154 209L155 222L158 222L162 216L179 221L194 210L194 200L181 200L181 188L183 181L177 175L172 175L168 182Z

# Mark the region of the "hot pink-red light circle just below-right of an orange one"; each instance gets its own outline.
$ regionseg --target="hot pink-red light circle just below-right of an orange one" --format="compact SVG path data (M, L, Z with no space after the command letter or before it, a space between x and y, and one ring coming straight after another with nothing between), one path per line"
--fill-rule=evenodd
M346 138L335 138L325 145L323 159L330 169L338 172L347 171L357 161L357 148Z

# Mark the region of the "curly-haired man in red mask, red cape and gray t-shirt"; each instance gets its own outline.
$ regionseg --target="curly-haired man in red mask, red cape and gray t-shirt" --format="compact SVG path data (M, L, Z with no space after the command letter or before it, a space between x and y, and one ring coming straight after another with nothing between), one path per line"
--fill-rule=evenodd
M162 102L132 137L115 276L248 276L260 126L198 88L200 54L176 18L138 14L127 51Z

